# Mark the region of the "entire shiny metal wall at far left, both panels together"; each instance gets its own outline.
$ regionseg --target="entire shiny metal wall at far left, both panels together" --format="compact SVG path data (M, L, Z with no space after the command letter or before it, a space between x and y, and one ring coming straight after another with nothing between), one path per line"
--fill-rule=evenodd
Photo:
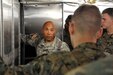
M19 47L19 2L17 0L1 1L1 56L4 62L9 65L14 64L17 55L16 48Z

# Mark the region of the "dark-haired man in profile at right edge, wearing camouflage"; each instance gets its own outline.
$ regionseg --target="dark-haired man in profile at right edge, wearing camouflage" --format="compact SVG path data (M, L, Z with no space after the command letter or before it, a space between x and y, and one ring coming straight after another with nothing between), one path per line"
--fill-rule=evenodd
M102 12L102 27L107 31L98 40L98 45L106 55L113 54L113 8L107 8Z

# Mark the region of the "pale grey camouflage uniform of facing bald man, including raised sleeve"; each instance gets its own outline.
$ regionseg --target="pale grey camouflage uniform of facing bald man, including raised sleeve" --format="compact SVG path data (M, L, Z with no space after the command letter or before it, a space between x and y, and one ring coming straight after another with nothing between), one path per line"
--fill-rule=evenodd
M54 38L52 44L46 44L44 39L39 41L40 37L38 34L35 40L32 40L31 37L32 36L22 36L22 40L36 48L37 56L51 54L59 51L70 51L68 45L57 37Z

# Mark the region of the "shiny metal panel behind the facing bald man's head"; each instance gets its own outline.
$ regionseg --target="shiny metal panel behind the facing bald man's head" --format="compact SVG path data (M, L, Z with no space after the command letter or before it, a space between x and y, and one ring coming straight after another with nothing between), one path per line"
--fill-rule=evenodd
M34 4L24 6L25 34L41 34L41 27L48 20L55 23L58 31L62 30L62 4Z

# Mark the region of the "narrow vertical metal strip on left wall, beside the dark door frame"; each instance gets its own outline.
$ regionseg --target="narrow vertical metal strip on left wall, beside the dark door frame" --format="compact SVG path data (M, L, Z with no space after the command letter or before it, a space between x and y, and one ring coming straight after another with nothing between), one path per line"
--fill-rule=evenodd
M13 2L13 20L14 20L14 27L12 31L12 35L14 35L14 59L15 60L15 65L20 64L20 3L18 0L14 0Z

